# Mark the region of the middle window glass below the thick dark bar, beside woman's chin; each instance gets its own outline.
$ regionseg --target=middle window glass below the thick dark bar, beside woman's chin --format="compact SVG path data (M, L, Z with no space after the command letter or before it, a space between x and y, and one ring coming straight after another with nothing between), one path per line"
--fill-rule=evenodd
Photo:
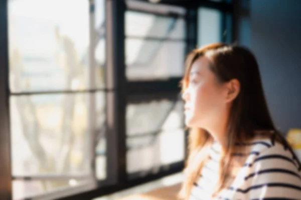
M127 171L149 170L184 159L183 102L168 99L128 104ZM173 142L170 142L173 140ZM139 163L136 161L139 159Z

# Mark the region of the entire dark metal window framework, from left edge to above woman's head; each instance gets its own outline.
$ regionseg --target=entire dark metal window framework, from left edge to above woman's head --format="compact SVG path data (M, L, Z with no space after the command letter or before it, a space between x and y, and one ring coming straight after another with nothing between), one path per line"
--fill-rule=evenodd
M147 1L147 0L144 0ZM2 29L0 37L0 157L3 164L0 166L1 184L0 196L3 199L12 198L12 176L11 176L11 143L10 143L10 124L9 124L9 63L8 63L8 0L1 1L0 9L0 29ZM187 21L187 49L189 52L196 47L197 37L197 8L199 6L210 7L221 10L225 13L233 13L233 3L214 2L210 0L179 0L170 1L162 0L163 4L183 6L187 9L185 15ZM126 189L141 183L156 180L165 175L179 172L183 169L184 162L177 162L166 166L162 166L157 174L151 174L136 178L137 174L128 175L126 173L126 134L125 134L125 110L126 103L132 96L144 96L145 94L157 95L162 97L168 92L172 95L178 95L180 92L179 78L170 78L168 80L156 81L126 81L125 63L124 63L124 12L125 3L122 0L106 0L106 88L92 89L83 91L38 91L37 94L43 93L74 93L74 92L107 92L107 180L99 181L98 187L94 190L75 194L63 199L91 199L101 195ZM234 17L232 17L234 19ZM226 20L222 19L222 26L225 27ZM232 22L232 26L234 23ZM224 28L222 28L224 29ZM232 34L234 31L232 28ZM232 36L232 39L234 37ZM150 38L152 39L152 38ZM35 92L34 92L35 93ZM27 94L34 94L29 92ZM162 95L161 95L162 94ZM14 93L14 95L23 95ZM144 96L147 100L148 97ZM154 97L154 96L153 96ZM149 97L149 98L153 98ZM142 99L141 99L142 100Z

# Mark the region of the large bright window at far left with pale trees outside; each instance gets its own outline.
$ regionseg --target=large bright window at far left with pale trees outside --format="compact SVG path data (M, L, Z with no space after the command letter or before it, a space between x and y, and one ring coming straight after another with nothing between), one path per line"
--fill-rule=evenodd
M14 199L58 198L106 178L104 3L8 1Z

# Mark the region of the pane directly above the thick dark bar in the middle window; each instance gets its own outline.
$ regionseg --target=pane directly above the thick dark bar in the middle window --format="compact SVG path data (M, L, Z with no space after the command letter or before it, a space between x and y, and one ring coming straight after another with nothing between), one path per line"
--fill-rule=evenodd
M127 38L125 42L126 76L129 80L183 75L185 42L132 38Z

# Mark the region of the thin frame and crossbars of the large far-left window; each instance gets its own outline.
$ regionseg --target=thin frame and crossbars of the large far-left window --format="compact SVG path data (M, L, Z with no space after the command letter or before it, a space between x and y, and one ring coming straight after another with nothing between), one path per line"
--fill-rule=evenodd
M13 197L13 180L23 180L23 181L31 181L31 180L59 180L59 179L69 179L69 178L75 178L75 179L90 179L88 183L83 183L83 184L79 184L76 186L64 186L64 187L59 187L59 188L55 188L51 191L47 191L41 194L37 194L34 196L30 196L30 197L24 197L24 199L54 199L54 198L61 198L61 197L66 197L66 196L70 196L70 195L76 195L91 189L95 189L97 188L97 180L96 180L96 175L95 175L95 147L94 141L95 141L95 131L94 128L95 127L95 117L94 117L94 110L95 110L95 94L97 92L110 92L109 89L107 88L95 88L95 68L92 66L95 66L96 60L94 57L94 52L95 52L95 45L96 43L93 42L94 38L96 38L96 32L94 30L94 1L90 1L87 0L88 4L89 4L89 43L90 44L94 44L94 45L89 45L89 71L88 71L88 76L89 76L89 82L88 82L88 89L80 89L80 90L72 90L72 89L61 89L61 90L38 90L38 91L21 91L21 92L14 92L14 91L10 91L10 82L9 82L9 61L7 60L7 63L5 64L6 67L2 67L6 70L6 73L1 73L1 74L7 74L7 76L5 76L5 78L3 78L3 80L5 80L5 86L7 88L7 92L5 95L6 100L8 101L8 107L6 108L8 110L8 113L6 114L5 118L10 118L10 112L9 112L9 101L10 101L10 97L11 96L24 96L24 95L41 95L41 94L88 94L88 119L87 121L89 122L88 127L87 127L87 137L88 137L88 141L90 144L90 149L89 149L89 166L91 167L91 174L87 174L87 175L61 175L61 174L41 174L41 175L12 175L12 170L10 168L10 173L7 173L10 175L10 185L11 185L11 196L8 199L11 199ZM6 13L6 29L8 30L8 2L9 0L5 0L2 1L5 2L4 6L1 6L1 8L5 9ZM6 53L4 53L4 55L7 55L7 59L8 59L8 49L9 49L9 42L8 42L8 31L5 31L7 33L7 37L4 37L7 39L7 48L6 48ZM4 50L5 48L0 48L1 50ZM3 64L4 65L4 64ZM1 85L2 86L2 85ZM2 88L2 87L1 87ZM1 95L1 94L0 94ZM3 95L1 95L2 97ZM2 118L2 116L1 116ZM9 126L11 126L12 124L9 124ZM1 131L2 129L0 129ZM11 130L8 130L9 136L11 136ZM9 139L10 140L10 139ZM9 142L10 144L10 151L11 151L11 141ZM11 154L10 154L10 167L12 167L12 163L11 163ZM91 179L92 178L92 179Z

